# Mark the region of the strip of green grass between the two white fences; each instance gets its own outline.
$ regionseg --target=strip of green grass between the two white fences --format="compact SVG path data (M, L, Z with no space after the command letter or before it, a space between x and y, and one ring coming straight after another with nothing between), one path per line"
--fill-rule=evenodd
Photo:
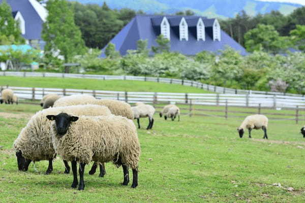
M143 91L143 92L182 92L182 93L210 93L206 90L183 86L131 80L97 80L75 78L43 78L43 77L11 77L1 76L0 86L9 85L17 87L49 87L66 89L92 89L113 91Z

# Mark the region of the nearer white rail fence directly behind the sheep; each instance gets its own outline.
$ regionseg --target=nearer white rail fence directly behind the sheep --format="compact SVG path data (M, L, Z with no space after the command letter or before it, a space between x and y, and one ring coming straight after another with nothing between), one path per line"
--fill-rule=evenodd
M22 99L41 99L44 95L89 94L96 98L124 100L127 103L144 101L145 103L180 103L193 105L216 105L236 107L266 108L305 108L305 97L267 95L267 94L208 94L208 93L169 93L169 92L124 92L85 89L31 88L0 86L0 90L11 88Z

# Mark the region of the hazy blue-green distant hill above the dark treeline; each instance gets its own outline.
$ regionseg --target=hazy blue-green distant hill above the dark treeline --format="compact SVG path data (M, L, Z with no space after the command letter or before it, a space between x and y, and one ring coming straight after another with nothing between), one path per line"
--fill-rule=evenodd
M70 0L72 1L72 0ZM197 15L207 17L234 17L241 10L249 15L269 13L272 10L287 15L299 4L280 2L260 2L256 0L74 0L82 4L99 4L104 1L111 9L130 8L142 10L148 14L164 12L174 14L177 11L191 9Z

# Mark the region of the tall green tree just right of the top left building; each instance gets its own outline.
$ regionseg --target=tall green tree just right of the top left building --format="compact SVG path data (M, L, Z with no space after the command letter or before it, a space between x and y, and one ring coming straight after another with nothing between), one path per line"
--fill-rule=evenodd
M73 10L65 0L49 0L49 15L43 24L42 38L46 42L45 56L62 55L65 62L85 51L81 32L75 25Z

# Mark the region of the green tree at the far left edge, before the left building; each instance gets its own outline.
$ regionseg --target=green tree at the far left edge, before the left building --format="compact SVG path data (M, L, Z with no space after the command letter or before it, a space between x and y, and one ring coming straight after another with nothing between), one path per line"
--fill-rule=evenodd
M0 4L0 16L0 36L2 36L1 45L7 43L24 43L24 39L21 36L21 30L19 29L19 24L14 20L12 9L5 0Z

